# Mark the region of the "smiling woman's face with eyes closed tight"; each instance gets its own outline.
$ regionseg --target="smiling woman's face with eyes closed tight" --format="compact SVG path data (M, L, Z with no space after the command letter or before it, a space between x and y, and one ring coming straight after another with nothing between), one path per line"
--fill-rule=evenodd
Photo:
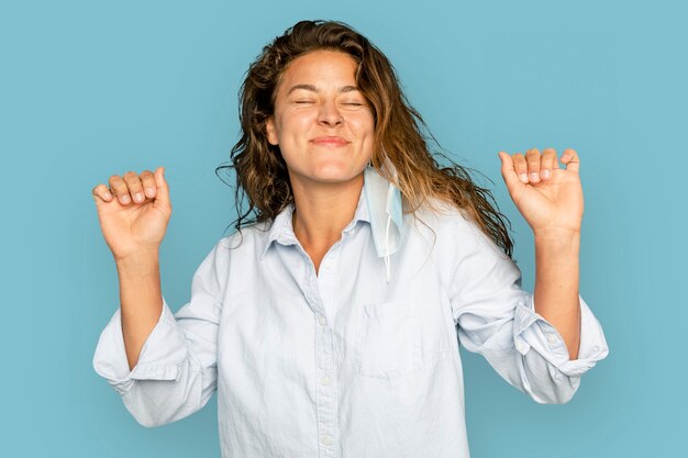
M292 187L356 179L373 154L373 111L356 87L347 54L314 51L282 74L268 142L279 145Z

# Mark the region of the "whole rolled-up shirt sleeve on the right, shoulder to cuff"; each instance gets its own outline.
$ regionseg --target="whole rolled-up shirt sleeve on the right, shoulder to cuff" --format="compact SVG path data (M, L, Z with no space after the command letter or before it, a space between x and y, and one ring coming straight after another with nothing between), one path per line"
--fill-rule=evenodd
M539 403L568 402L582 373L609 354L602 327L579 297L578 359L570 360L557 329L535 312L521 289L521 271L477 228L457 254L451 301L462 346L478 353L510 384Z

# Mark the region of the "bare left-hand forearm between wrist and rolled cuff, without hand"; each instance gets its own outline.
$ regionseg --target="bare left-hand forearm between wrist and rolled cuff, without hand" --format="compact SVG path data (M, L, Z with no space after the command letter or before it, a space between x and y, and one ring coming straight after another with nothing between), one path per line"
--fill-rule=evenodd
M130 370L163 312L158 252L116 259L122 334Z

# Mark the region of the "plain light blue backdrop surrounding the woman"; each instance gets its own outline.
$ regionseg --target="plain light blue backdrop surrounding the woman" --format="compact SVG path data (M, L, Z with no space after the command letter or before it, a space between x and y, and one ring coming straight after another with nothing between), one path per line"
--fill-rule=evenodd
M220 456L215 398L147 429L92 369L119 298L91 189L166 167L163 288L180 308L234 217L214 168L237 139L242 76L300 19L345 21L390 57L442 146L493 181L481 178L513 222L528 289L532 235L497 152L580 155L580 291L610 356L572 402L540 405L462 350L473 456L685 453L686 11L623 1L14 3L0 7L1 456Z

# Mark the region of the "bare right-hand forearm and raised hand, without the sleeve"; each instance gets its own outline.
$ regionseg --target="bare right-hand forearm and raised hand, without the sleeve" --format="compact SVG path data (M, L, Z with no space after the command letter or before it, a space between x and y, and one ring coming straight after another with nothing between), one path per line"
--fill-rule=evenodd
M573 149L500 153L501 172L514 204L535 237L535 311L562 335L570 359L578 357L580 306L578 253L584 199L579 159Z

